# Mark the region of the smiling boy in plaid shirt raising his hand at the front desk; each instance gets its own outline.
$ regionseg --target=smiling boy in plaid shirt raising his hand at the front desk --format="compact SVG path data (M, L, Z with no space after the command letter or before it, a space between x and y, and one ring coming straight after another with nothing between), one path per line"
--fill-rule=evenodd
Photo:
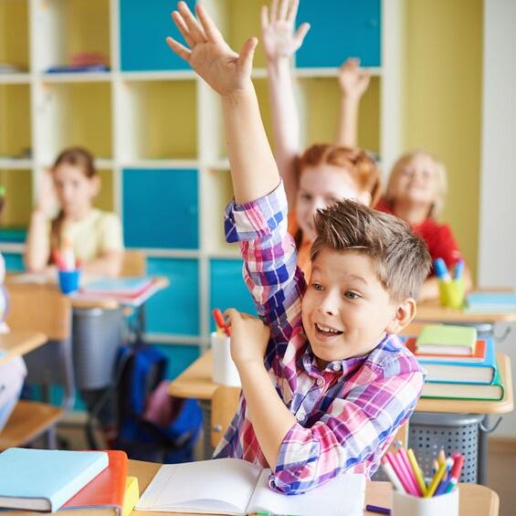
M288 494L347 470L369 475L423 385L395 333L414 317L426 246L394 216L339 201L316 216L306 285L251 81L257 40L237 55L202 5L197 16L180 2L173 18L188 47L167 42L221 97L235 192L226 239L239 242L267 323L227 312L243 397L215 456L269 465L271 487Z

